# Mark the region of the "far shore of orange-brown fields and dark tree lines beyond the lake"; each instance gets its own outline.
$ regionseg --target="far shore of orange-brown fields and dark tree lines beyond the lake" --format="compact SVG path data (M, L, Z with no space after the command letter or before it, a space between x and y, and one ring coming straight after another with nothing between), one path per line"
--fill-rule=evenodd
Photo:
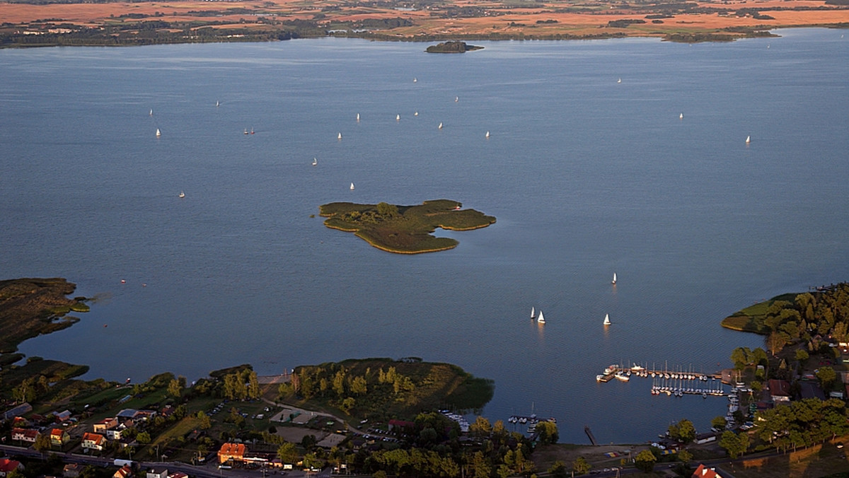
M25 0L28 1L28 0ZM849 28L849 8L832 0L764 0L632 6L595 0L528 7L447 3L396 10L315 0L186 0L173 4L3 3L0 48L141 46L202 42L273 42L348 37L444 42L591 40L655 37L672 42L728 42L772 37L781 28ZM235 5L235 6L234 6ZM327 8L325 8L327 7ZM330 8L332 7L332 8Z

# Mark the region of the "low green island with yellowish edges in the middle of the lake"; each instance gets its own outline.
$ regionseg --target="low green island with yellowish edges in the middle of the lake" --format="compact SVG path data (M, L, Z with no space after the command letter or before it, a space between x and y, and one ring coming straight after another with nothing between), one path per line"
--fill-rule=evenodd
M457 247L457 240L437 238L436 228L453 231L486 228L495 217L474 209L460 209L453 200L430 200L420 205L376 205L335 202L322 205L319 214L328 228L354 233L374 247L397 254L419 254Z

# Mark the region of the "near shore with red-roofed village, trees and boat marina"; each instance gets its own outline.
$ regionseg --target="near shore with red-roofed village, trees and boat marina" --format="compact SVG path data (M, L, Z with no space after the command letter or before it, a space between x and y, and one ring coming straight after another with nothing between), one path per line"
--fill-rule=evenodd
M136 384L76 380L86 368L20 354L13 361L7 349L0 356L0 478L563 478L628 469L708 477L731 475L734 464L734 476L775 466L792 476L800 463L823 470L813 475L832 475L849 464L842 450L849 438L847 312L846 284L744 309L723 326L767 332L767 350L735 349L734 367L717 374L610 365L600 383L644 379L652 380L653 395L728 397L728 413L711 420L711 430L697 432L682 419L659 438L610 447L599 446L589 427L591 446L563 447L556 420L536 415L469 423L453 410L482 408L492 382L417 357L266 377L242 365L190 384L170 373Z

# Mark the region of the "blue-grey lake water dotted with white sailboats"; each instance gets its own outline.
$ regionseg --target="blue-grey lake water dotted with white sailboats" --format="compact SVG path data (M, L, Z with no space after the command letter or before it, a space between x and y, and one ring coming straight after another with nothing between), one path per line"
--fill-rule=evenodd
M98 298L21 351L136 381L415 356L561 441L705 431L724 399L594 377L728 367L762 340L723 317L849 278L849 40L779 33L0 50L0 275ZM311 217L440 198L498 222L400 256Z

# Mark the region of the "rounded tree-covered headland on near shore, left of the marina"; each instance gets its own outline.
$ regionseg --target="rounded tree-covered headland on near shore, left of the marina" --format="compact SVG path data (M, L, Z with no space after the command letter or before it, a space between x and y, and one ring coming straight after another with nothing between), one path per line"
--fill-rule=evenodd
M421 410L477 409L492 399L491 380L448 363L367 358L295 368L283 400L334 408L357 419L412 419Z

